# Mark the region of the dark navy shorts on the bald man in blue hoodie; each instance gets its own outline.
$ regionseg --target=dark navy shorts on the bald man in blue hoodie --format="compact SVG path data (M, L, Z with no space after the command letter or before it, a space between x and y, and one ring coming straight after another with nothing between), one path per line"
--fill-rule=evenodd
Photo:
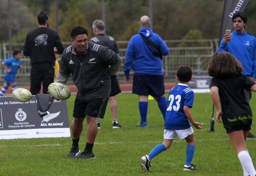
M163 75L133 75L132 93L160 97L164 95Z

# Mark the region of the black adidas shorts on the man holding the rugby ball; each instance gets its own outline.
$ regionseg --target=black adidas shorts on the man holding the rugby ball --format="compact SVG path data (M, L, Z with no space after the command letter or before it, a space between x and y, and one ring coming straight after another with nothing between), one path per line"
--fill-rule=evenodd
M84 118L85 116L104 118L108 98L93 99L88 102L82 102L77 97L74 103L73 117Z

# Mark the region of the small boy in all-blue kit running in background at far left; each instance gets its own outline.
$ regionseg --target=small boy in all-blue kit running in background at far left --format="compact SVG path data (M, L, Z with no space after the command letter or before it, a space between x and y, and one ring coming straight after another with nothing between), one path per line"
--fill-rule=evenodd
M0 91L0 96L3 96L9 86L12 86L12 91L17 88L15 82L15 75L19 68L21 68L21 52L18 50L13 51L13 57L6 59L2 62L3 68L6 70L4 74L4 86Z

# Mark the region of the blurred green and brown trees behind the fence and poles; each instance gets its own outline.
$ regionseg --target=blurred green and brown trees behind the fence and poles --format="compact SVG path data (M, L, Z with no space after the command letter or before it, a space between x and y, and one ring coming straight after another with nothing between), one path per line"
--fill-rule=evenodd
M164 40L219 38L224 0L153 0L153 31ZM255 35L256 1L244 11L246 31ZM49 28L55 30L54 0L12 0L12 42L25 42L27 33L38 27L37 14L46 11ZM148 0L106 0L106 33L118 40L129 40L139 30L139 19L148 15ZM8 42L8 0L0 5L0 42ZM88 29L101 19L101 0L59 0L58 22L62 42L70 41L75 26Z

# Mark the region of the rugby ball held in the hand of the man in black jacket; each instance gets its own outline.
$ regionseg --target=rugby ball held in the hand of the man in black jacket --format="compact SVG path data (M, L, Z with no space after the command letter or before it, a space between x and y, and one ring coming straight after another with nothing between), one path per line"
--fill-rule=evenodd
M69 88L59 82L53 82L48 86L49 93L58 100L67 100L71 93Z

